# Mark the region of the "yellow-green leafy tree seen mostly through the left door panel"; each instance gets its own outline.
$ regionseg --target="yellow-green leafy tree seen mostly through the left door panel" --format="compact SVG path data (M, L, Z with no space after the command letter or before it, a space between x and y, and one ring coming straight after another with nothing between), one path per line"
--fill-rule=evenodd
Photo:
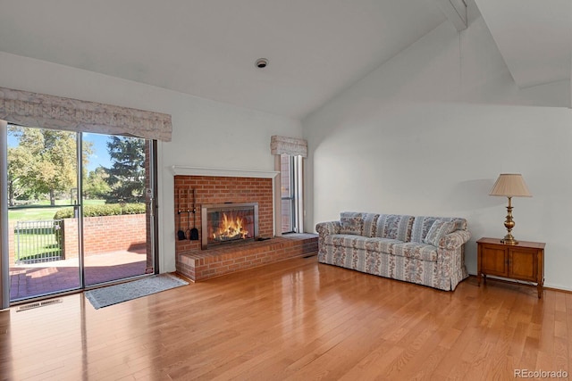
M55 195L68 194L77 187L76 133L45 128L11 126L10 132L19 145L9 151L8 175L13 184L26 192L49 195L55 205ZM91 144L83 145L83 164L88 163ZM15 168L14 168L15 167Z

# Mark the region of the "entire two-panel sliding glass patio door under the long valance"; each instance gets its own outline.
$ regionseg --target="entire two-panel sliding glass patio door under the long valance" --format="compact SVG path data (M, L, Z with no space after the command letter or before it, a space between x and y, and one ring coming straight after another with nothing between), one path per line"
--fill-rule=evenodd
M155 273L155 144L8 125L10 301Z

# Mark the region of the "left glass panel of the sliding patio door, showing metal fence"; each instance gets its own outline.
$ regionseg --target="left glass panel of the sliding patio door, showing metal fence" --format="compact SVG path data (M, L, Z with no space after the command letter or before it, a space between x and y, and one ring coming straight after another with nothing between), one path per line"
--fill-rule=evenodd
M8 125L8 245L11 302L78 289L78 137L74 132Z

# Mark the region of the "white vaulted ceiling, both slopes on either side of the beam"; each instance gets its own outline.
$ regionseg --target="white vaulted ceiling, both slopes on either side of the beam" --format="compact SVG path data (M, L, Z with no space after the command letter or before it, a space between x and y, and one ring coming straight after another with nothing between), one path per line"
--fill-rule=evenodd
M0 51L303 119L446 21L448 1L0 0ZM505 1L530 10L509 12ZM566 77L567 64L570 77L572 44L561 51L568 36L539 60L526 50L530 33L513 28L552 28L546 19L559 13L538 12L551 1L554 12L569 5L477 0L517 83ZM534 48L543 47L537 39ZM270 61L262 70L260 57Z

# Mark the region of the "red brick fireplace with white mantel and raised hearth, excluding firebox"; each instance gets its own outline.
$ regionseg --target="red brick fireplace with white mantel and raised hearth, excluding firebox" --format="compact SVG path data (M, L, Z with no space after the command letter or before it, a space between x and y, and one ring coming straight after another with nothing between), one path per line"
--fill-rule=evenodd
M203 280L317 252L317 236L313 234L274 236L273 177L277 172L246 171L233 176L233 171L227 171L223 176L217 176L220 170L207 170L209 173L203 174L204 171L173 167L173 235L176 268L181 275L193 281ZM254 176L249 177L251 173ZM257 205L257 236L248 240L232 240L231 243L206 244L205 247L202 237L207 232L204 232L202 206L246 204ZM186 232L183 240L177 236L179 218L181 230ZM191 228L198 228L197 240L189 239Z

